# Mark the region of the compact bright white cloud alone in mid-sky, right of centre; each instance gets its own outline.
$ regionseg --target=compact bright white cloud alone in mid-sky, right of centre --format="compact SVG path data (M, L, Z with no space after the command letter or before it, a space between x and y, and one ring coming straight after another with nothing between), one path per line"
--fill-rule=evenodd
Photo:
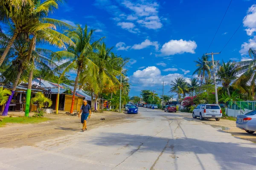
M160 55L169 56L174 54L183 54L183 53L192 53L195 54L195 49L197 48L197 44L195 41L186 41L186 40L170 40L166 42L162 48Z

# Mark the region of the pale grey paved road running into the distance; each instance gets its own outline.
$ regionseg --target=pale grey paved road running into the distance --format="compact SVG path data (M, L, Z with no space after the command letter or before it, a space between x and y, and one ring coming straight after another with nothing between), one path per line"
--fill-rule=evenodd
M175 113L140 108L127 123L0 148L0 169L255 170L255 157L253 142Z

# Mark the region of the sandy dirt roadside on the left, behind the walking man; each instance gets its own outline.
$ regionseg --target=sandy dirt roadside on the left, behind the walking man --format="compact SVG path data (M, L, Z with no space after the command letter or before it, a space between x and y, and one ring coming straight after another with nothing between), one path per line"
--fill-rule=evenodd
M18 116L19 114L12 113L14 116ZM78 118L78 116L68 116L64 113L59 113L58 115L46 114L45 117L50 120L38 124L7 124L6 127L0 127L0 147L33 145L42 140L54 139L58 136L81 131L81 118ZM101 118L105 118L105 120L101 120ZM140 114L135 115L110 111L93 113L87 124L87 129L90 130L100 125L114 125L117 122L128 122L131 119L141 119Z

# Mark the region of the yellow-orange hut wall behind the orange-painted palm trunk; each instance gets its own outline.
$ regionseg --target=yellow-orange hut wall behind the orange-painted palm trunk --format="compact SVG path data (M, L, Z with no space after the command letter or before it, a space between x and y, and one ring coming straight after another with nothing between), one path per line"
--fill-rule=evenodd
M83 97L75 96L74 110L80 111L81 105L83 104ZM64 111L70 111L72 103L72 95L65 95Z

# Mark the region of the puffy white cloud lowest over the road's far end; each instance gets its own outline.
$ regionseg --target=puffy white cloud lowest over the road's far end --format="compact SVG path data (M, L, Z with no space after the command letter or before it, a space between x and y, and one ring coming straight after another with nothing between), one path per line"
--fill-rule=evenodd
M143 70L137 70L133 73L132 76L129 77L131 84L134 83L143 83L142 87L145 86L154 86L151 84L171 82L174 81L177 77L183 77L186 81L189 81L189 78L184 77L183 74L168 74L161 75L161 71L159 68L155 66L149 66ZM166 84L167 85L167 84Z

